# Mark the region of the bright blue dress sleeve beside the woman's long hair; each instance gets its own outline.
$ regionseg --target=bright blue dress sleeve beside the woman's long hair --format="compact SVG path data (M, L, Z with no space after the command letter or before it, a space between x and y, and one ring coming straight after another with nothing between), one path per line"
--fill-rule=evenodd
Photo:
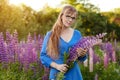
M42 62L43 65L45 65L46 67L50 67L50 64L52 63L52 59L47 55L47 42L49 40L50 37L50 32L47 32L46 36L44 37L43 40L43 44L42 44L42 49L40 51L40 60Z

